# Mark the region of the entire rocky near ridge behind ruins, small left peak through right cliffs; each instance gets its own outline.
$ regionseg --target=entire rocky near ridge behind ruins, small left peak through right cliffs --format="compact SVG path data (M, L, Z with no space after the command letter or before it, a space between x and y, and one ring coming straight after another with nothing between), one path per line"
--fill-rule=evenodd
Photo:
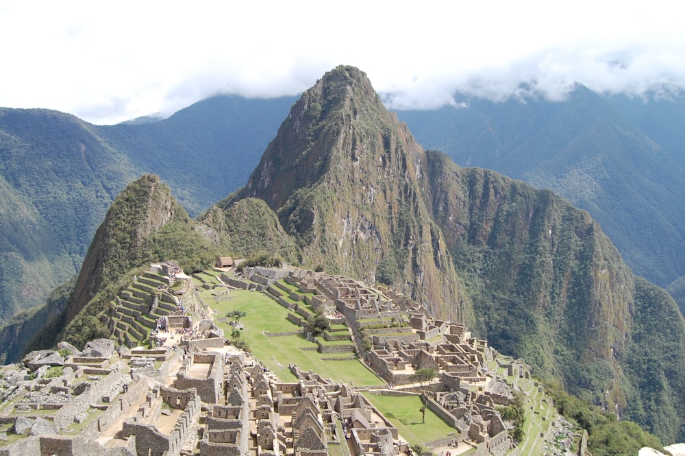
M43 310L58 316L34 346L65 328L107 331L106 304L149 261L195 270L251 247L386 283L574 396L664 442L685 438L685 322L668 294L632 274L588 213L558 195L425 152L353 67L306 91L247 185L199 221L156 176L129 185L73 292L55 297L64 310Z

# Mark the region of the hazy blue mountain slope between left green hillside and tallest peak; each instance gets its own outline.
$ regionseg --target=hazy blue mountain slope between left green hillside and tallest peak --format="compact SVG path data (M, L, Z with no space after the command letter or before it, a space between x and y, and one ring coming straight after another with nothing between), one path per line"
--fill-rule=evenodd
M193 217L245 184L294 97L219 95L142 125L99 127L138 173L169 182Z

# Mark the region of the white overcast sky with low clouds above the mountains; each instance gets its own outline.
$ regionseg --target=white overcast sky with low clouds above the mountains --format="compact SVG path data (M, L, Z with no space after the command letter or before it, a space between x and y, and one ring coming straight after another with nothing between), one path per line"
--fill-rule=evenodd
M447 5L447 4L451 5ZM0 106L92 123L171 113L215 95L296 95L338 64L389 108L521 83L639 95L685 86L674 1L0 0ZM519 89L519 95L521 90Z

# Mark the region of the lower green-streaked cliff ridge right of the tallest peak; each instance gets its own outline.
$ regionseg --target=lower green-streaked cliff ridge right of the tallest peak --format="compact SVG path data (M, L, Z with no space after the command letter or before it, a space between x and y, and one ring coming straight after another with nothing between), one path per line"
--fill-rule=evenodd
M634 276L597 223L551 191L427 156L434 217L477 333L573 396L682 439L685 324L667 293Z

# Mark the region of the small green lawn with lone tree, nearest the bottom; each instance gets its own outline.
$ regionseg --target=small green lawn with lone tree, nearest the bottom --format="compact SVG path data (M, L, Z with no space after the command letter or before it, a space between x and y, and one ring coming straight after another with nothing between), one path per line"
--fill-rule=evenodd
M367 399L397 427L399 434L410 444L421 444L447 437L456 432L440 417L426 410L426 422L421 422L422 403L419 396L378 396L364 393Z

